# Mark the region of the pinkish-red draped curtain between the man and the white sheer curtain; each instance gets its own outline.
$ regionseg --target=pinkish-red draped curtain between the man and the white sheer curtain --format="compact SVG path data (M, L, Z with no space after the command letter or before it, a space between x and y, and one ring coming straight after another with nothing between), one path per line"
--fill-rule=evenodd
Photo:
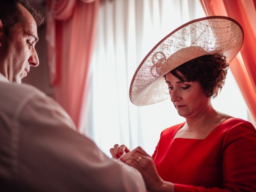
M55 99L80 128L99 0L48 0L48 64Z

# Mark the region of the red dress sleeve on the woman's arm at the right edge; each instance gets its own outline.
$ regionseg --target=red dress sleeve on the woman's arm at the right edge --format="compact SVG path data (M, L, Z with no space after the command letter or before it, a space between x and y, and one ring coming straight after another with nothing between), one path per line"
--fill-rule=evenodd
M256 130L241 122L226 134L222 145L222 188L174 184L175 192L255 192Z

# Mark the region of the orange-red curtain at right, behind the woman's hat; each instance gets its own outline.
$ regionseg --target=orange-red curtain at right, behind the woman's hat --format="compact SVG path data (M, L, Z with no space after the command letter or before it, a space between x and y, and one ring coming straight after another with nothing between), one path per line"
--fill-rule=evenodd
M256 0L200 0L208 16L228 16L244 30L244 44L230 70L256 122Z

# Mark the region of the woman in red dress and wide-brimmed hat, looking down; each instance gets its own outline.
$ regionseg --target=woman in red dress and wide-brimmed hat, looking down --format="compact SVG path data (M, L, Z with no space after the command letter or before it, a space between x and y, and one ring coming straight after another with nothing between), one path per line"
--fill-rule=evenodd
M134 104L164 100L168 89L186 118L162 131L152 156L140 147L110 149L113 158L126 152L120 160L140 171L148 190L256 191L255 128L214 110L210 102L242 42L242 28L233 19L201 18L166 36L136 70L130 86Z

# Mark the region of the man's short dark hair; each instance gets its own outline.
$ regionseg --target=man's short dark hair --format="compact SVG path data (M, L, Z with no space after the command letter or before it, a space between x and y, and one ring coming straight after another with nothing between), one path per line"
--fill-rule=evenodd
M4 30L7 36L12 26L18 22L22 22L22 13L18 7L18 4L21 4L28 10L28 12L30 12L36 21L37 27L44 22L42 15L37 12L27 0L0 0L0 19L2 20L2 24L4 25Z

